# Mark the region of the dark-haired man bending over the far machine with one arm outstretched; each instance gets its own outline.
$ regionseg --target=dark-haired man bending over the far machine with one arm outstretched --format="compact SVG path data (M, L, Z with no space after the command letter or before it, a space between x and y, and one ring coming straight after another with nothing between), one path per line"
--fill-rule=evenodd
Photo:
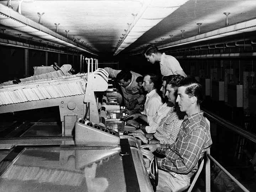
M112 68L104 68L109 76L116 78L123 93L124 104L129 110L137 110L144 99L144 95L140 95L138 91L138 83L136 79L141 76L133 71L114 70Z

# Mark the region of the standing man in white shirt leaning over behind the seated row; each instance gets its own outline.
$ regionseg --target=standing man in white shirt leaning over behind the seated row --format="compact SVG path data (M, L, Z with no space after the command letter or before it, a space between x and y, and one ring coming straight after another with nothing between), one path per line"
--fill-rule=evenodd
M161 74L163 76L168 75L181 75L186 77L187 75L180 66L180 63L172 57L171 55L166 55L161 53L155 45L147 46L143 55L148 60L148 62L154 64L155 62L160 62Z

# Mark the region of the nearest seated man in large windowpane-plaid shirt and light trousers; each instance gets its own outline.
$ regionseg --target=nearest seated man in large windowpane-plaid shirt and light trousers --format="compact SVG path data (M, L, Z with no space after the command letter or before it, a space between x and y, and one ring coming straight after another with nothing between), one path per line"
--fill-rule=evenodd
M180 111L186 112L180 132L174 144L148 144L141 147L142 154L149 160L154 158L153 151L165 154L158 158L159 182L156 191L179 192L188 188L190 178L198 169L198 161L204 149L212 144L209 125L200 104L204 99L202 85L193 78L185 78L178 87L177 103ZM145 148L149 148L150 151Z

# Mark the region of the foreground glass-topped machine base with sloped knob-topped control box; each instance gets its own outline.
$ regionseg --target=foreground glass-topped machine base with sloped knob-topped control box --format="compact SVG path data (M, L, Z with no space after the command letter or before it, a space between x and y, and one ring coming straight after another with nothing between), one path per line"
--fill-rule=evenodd
M157 184L156 161L146 169L138 140L100 123L78 118L75 146L19 147L0 170L0 191L153 192Z

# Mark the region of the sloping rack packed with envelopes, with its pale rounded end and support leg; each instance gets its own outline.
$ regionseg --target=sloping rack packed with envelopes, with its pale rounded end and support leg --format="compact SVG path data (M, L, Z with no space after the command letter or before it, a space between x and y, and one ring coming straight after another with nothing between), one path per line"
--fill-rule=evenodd
M94 91L107 89L107 72L97 69L88 74L63 75L59 71L18 84L0 85L0 113L58 106L62 135L71 135L76 119L84 118L91 103L88 114L98 122Z

